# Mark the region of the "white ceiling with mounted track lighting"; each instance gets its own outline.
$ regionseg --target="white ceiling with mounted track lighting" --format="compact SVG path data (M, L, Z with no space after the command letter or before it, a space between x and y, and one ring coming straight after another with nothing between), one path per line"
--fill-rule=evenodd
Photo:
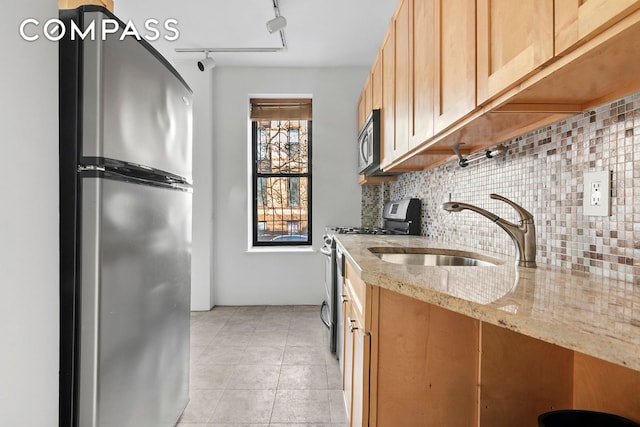
M213 53L217 66L336 67L370 66L389 25L397 0L278 0L288 49L270 53ZM178 20L178 40L151 42L167 59L180 63L204 57L176 48L281 47L266 22L272 0L116 0L115 13L144 22ZM168 34L166 31L161 33Z

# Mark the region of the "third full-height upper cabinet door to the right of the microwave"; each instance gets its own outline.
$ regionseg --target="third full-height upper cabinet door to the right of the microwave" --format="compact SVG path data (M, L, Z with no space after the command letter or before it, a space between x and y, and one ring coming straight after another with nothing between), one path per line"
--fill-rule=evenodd
M409 148L431 138L433 132L434 98L434 2L411 0L413 10L413 93L410 116Z

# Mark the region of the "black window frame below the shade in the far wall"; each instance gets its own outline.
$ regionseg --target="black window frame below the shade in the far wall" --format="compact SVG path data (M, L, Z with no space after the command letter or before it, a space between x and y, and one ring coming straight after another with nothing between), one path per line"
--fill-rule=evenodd
M258 152L259 147L259 123L260 121L262 121L261 119L256 119L256 120L251 120L251 187L252 187L252 197L251 197L251 202L252 202L252 207L251 207L251 211L252 211L252 220L251 220L251 229L252 229L252 238L251 238L251 243L252 243L252 247L256 248L256 247L308 247L311 246L313 244L313 236L312 236L312 183L313 183L313 176L312 176L312 153L313 153L313 136L312 136L312 129L313 129L313 121L311 119L280 119L280 120L269 120L271 122L274 121L306 121L307 122L307 172L305 173L283 173L283 172L277 172L277 173L260 173L258 170L258 165L261 161L265 161L265 160L271 160L271 155L270 153L266 153L266 158L267 159L261 159L259 156L259 154L262 154L262 152ZM300 150L300 146L299 146L299 130L298 130L298 142L296 144L297 146L297 150ZM287 133L287 144L289 144L289 134ZM268 151L268 150L267 150ZM287 154L290 154L290 147L287 149ZM279 241L259 241L258 240L258 232L259 230L259 226L258 224L260 222L264 222L264 221L260 221L259 220L259 216L258 216L258 180L264 178L269 179L269 178L298 178L298 184L297 184L297 188L298 188L298 195L297 195L297 201L298 204L296 207L300 207L303 205L301 197L300 197L300 178L306 178L307 180L307 240L306 241L299 241L299 240L279 240ZM290 181L287 181L290 185ZM288 187L289 187L288 185ZM288 188L287 188L288 190ZM289 207L290 205L288 204L288 202L290 201L290 195L287 194L287 207ZM287 225L288 228L288 225Z

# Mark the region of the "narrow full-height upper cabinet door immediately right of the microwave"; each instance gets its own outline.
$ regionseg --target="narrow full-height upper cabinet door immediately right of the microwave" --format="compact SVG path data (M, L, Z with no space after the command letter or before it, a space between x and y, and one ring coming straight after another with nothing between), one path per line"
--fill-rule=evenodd
M393 161L395 148L395 46L393 34L393 22L382 43L382 114L381 129L384 141L381 166L384 168Z

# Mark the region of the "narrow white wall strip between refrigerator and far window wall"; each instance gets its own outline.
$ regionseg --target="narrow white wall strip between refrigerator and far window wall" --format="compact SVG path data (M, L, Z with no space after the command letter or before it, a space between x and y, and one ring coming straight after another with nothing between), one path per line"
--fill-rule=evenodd
M201 72L194 61L176 69L193 90L193 246L191 309L209 310L213 300L213 118L211 71Z

